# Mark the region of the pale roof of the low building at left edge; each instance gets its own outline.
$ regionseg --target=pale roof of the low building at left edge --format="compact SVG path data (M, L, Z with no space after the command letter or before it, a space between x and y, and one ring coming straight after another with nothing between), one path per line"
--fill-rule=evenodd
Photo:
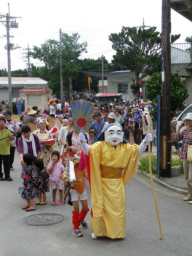
M12 77L12 85L46 85L47 81L40 77ZM0 85L8 85L8 77L0 77Z

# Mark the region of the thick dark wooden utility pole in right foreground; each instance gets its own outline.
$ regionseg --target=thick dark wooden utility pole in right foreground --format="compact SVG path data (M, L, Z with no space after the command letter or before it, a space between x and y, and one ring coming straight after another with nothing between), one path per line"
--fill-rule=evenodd
M171 177L171 0L162 0L160 175Z

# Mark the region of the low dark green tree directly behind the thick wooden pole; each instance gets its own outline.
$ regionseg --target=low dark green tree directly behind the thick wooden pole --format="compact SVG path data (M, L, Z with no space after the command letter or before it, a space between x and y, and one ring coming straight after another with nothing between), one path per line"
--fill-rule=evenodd
M154 73L145 83L146 98L157 102L157 95L161 94L161 72ZM171 110L183 107L184 101L189 97L188 89L178 73L171 73Z

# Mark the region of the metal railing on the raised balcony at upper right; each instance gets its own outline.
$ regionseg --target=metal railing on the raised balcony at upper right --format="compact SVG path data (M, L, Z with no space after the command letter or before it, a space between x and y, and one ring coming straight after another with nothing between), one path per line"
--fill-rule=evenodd
M171 64L192 63L192 43L171 43Z

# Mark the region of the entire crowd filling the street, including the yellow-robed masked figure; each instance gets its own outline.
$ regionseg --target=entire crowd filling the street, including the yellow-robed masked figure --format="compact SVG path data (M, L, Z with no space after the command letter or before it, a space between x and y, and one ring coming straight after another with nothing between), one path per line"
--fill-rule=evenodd
M68 204L73 205L73 234L83 235L79 228L80 225L87 228L85 222L85 216L89 211L85 190L85 177L87 177L91 189L92 238L97 239L101 235L111 238L124 237L125 195L123 187L136 171L138 155L149 150L147 143L151 143L153 138L150 117L151 102L145 103L144 108L150 126L151 134L149 135L139 100L131 100L130 103L122 100L118 104L109 102L109 104L99 107L91 95L86 95L85 99L93 103L94 110L89 130L84 134L79 133L74 127L68 101L65 104L61 104L59 100L48 101L49 104L43 111L38 110L38 106L25 110L24 115L20 118L20 123L12 118L9 110L1 114L0 181L12 181L10 171L14 170L13 163L17 146L21 163L21 178L23 178L21 197L27 201L22 209L30 212L36 210L36 205L47 204L46 192L49 192L50 186L52 190L51 205L59 206L63 203L65 186L63 156L68 150L71 157L75 159L73 162L76 179L68 200ZM54 137L49 132L53 127L51 118L59 126L59 131ZM182 139L183 144L191 142L191 120L192 116L190 115L183 120L188 126L185 132L181 133L179 133L179 129L175 131L175 124L172 124L174 142ZM31 123L32 127L29 125ZM174 144L177 146L177 143ZM184 200L192 200L192 168L191 163L187 161L186 148L187 146L183 145L181 150L189 193ZM85 158L83 164L81 163L82 158ZM58 201L56 200L57 190L59 190ZM108 192L113 194L117 191L119 195L121 194L119 199L112 197L109 200ZM34 198L38 198L36 203ZM115 201L115 209L111 200ZM81 210L79 201L82 204ZM117 207L118 205L119 207ZM108 221L111 214L115 215L114 223ZM119 225L122 227L121 229L119 229Z

